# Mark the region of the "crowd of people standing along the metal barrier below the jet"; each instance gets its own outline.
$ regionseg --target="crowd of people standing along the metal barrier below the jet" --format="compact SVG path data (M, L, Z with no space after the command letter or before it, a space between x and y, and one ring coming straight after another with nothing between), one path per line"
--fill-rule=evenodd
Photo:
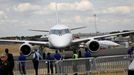
M78 59L81 58L81 51L80 50L73 50L73 55L72 59ZM91 57L91 53L89 50L85 49L84 57ZM39 61L40 60L47 60L45 63L47 64L47 73L48 74L53 74L54 69L53 67L56 67L53 63L56 63L57 61L60 61L63 59L63 56L61 53L59 53L59 50L56 50L54 54L51 53L43 53L42 55L40 54L38 49L35 49L32 52L32 62L33 62L33 67L35 70L35 75L38 75L38 67L39 67ZM20 71L21 75L26 75L26 60L27 57L23 55L22 52L20 52L20 55L18 56L18 69ZM13 73L14 69L14 57L13 54L9 53L9 50L6 48L4 53L2 53L0 57L0 75L14 75ZM57 69L55 68L55 72L57 73Z

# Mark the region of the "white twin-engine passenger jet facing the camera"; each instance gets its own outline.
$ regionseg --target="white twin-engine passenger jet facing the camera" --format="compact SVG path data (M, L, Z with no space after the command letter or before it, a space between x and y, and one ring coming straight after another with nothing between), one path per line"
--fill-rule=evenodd
M94 36L82 39L73 39L72 30L81 29L84 27L77 27L69 29L69 27L65 25L55 25L50 30L32 30L32 31L39 31L39 32L49 32L48 41L28 41L28 40L5 40L0 39L0 42L10 42L10 43L22 43L20 46L20 51L24 55L29 55L32 51L32 45L44 45L49 48L53 49L64 49L70 48L71 46L79 46L81 43L85 43L85 47L87 47L92 52L97 52L102 45L112 45L117 46L119 44L108 41L108 40L96 40L103 37L114 36L114 35L122 35L122 34L129 34L134 33L130 32L122 32L122 33L115 33L115 34L108 34L102 36Z

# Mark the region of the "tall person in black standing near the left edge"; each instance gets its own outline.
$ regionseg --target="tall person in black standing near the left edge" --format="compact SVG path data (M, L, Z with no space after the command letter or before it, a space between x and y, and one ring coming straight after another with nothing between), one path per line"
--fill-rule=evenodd
M5 49L5 53L7 55L7 60L8 60L8 63L9 63L9 75L14 75L14 73L13 73L13 69L14 69L13 54L9 53L9 50L7 48Z

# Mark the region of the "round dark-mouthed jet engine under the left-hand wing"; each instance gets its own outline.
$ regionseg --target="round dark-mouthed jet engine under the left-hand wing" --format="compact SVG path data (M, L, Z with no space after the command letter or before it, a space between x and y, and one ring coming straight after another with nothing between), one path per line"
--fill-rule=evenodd
M29 43L24 43L20 46L19 49L24 55L28 56L32 52L32 45Z

